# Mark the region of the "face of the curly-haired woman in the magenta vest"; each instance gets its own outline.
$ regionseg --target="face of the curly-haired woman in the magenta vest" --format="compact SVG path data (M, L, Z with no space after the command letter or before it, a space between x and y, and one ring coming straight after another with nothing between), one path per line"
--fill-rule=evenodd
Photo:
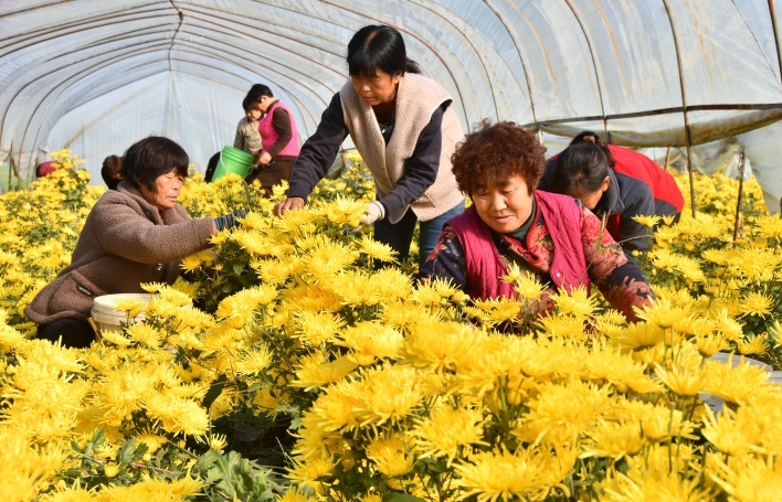
M519 229L532 212L532 195L518 174L510 177L503 186L478 189L472 197L480 220L500 234Z

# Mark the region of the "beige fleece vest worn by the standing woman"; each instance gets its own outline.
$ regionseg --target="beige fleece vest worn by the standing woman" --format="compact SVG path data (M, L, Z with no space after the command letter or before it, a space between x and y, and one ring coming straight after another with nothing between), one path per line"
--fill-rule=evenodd
M345 84L339 97L345 124L361 158L372 172L379 199L391 192L404 174L405 162L413 156L418 138L432 114L444 103L452 102L451 95L440 84L406 73L399 81L393 135L385 145L372 107L356 93L352 83ZM464 133L451 106L443 114L441 131L442 148L436 179L423 196L409 203L415 215L424 222L440 216L464 199L451 170L451 156L456 145L464 139ZM397 223L406 211L408 206L391 210L389 220Z

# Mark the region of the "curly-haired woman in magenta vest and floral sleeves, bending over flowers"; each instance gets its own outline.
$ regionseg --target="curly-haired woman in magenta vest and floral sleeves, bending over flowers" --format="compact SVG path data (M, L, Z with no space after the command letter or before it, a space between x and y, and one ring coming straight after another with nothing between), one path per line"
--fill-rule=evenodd
M484 121L456 148L453 172L473 205L444 226L420 278L450 279L472 298L516 298L500 278L516 264L548 285L550 295L594 282L630 321L654 293L638 267L575 199L536 191L546 149L512 122Z

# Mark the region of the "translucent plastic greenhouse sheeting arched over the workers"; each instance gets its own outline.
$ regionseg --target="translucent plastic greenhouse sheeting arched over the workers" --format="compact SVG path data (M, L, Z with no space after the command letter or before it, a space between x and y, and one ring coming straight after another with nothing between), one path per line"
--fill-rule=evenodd
M70 148L99 182L106 156L156 133L203 171L254 83L304 141L347 81L350 36L377 23L465 131L488 117L686 147L782 117L773 0L0 0L0 163L29 177Z

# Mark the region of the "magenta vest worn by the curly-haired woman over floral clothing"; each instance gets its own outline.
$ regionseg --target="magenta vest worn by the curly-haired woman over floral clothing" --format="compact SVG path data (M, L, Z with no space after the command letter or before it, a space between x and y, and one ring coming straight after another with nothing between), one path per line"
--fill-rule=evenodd
M568 291L579 286L589 290L586 258L581 241L581 209L567 195L536 191L533 196L553 241L551 281ZM535 221L538 217L539 214L536 214ZM465 292L484 300L500 296L517 298L511 285L498 280L508 270L494 245L489 227L480 220L475 206L452 218L448 226L464 247L468 278Z

